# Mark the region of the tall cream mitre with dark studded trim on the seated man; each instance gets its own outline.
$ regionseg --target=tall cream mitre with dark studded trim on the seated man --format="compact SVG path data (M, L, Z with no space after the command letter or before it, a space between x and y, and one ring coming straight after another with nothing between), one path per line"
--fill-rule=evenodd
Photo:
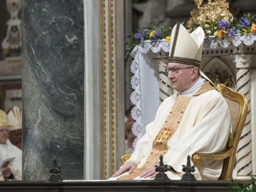
M203 42L204 31L201 27L189 33L186 28L178 22L172 29L168 62L200 67Z

